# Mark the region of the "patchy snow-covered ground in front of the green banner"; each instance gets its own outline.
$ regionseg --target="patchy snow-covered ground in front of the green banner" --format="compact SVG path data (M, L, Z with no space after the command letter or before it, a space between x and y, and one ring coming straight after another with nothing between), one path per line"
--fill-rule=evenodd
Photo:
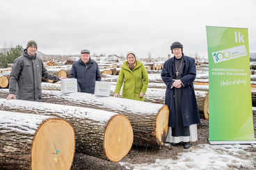
M152 164L119 163L127 169L256 169L256 144L202 144L180 153L177 160L157 159Z

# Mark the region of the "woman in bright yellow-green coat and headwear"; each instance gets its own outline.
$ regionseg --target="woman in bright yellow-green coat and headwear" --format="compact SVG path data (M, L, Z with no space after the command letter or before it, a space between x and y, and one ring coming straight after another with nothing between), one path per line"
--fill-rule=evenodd
M127 54L127 61L122 65L118 76L118 82L115 86L114 96L118 97L122 87L122 97L137 101L144 101L144 95L147 91L148 76L147 70L141 61L136 60L134 53Z

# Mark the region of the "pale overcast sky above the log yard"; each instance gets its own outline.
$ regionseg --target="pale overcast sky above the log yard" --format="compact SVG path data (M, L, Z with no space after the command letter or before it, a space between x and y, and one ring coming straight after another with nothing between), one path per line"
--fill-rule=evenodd
M256 52L255 0L1 0L0 48L29 40L47 54L91 53L166 57L170 44L207 55L205 26L248 28Z

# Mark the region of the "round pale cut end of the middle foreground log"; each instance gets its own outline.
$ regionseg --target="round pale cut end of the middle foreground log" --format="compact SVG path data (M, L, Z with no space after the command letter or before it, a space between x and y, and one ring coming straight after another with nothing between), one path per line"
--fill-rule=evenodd
M134 133L129 119L124 115L115 115L106 126L104 149L106 157L118 162L127 155L134 141Z

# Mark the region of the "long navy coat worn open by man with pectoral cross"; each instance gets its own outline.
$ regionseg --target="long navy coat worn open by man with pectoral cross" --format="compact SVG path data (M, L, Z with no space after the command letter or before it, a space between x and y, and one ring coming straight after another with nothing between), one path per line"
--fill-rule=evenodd
M195 91L193 81L195 80L196 69L195 60L188 56L184 56L182 65L182 119L184 126L191 124L200 124L198 113L198 104L195 99ZM170 58L164 62L161 71L161 78L166 83L166 105L170 110L168 126L175 127L175 87L171 88L175 79L175 60Z

